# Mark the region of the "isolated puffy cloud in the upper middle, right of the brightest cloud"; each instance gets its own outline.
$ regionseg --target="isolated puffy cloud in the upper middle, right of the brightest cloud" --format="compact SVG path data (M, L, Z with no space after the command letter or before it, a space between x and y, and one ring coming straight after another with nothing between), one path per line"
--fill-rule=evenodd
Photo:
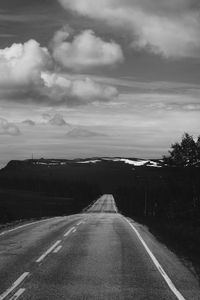
M52 41L53 57L65 68L81 70L123 61L121 47L113 41L103 41L92 30L81 32L72 41L69 38L65 27L55 33Z

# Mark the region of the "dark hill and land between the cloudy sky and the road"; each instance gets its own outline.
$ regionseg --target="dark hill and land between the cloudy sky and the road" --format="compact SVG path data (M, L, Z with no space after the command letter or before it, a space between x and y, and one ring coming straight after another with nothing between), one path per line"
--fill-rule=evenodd
M0 221L78 213L101 194L113 194L120 212L200 266L200 168L125 162L11 161L0 170Z

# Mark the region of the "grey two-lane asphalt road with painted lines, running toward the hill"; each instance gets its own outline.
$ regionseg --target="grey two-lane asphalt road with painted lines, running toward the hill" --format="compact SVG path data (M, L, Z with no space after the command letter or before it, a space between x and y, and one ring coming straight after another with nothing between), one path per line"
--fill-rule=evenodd
M195 276L104 195L83 214L0 232L0 300L200 300Z

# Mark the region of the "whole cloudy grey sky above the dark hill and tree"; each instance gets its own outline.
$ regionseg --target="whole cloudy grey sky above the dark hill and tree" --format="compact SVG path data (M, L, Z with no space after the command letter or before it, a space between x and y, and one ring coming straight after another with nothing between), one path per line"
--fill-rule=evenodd
M200 134L199 0L1 0L0 165Z

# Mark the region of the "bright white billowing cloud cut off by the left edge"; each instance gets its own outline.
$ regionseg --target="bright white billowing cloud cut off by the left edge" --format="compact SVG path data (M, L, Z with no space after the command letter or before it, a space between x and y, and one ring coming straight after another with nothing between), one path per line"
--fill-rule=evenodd
M41 71L51 65L46 48L35 40L24 44L13 44L0 49L0 87L19 88L41 84Z

